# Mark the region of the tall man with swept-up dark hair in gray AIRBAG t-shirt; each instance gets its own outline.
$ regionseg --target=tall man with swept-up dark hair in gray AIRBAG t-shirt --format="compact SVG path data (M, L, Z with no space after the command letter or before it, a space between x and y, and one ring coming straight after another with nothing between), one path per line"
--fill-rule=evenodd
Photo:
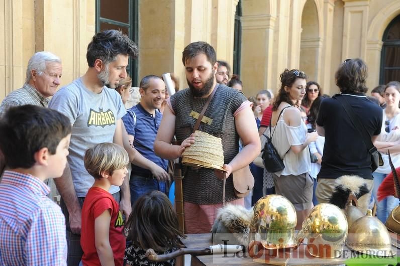
M138 48L128 36L116 30L97 33L87 46L86 73L57 91L49 103L50 108L65 114L72 124L68 165L63 176L55 180L66 218L68 265L77 265L83 253L79 235L81 207L94 181L83 165L85 150L98 143L116 143L127 149L132 160L132 148L126 145L128 139L122 122L126 110L114 89L127 75L129 56L136 58ZM112 186L109 192L128 217L132 210L128 178L121 186L121 195L120 187Z

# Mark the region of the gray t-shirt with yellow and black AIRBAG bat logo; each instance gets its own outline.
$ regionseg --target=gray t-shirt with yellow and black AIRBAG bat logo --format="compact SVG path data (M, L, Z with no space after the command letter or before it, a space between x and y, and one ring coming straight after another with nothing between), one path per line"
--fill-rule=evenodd
M49 108L65 114L72 124L68 163L78 197L85 197L94 178L83 164L86 149L98 143L112 143L117 120L126 114L121 96L114 89L103 88L101 93L88 90L78 78L59 89ZM114 194L119 187L111 186Z

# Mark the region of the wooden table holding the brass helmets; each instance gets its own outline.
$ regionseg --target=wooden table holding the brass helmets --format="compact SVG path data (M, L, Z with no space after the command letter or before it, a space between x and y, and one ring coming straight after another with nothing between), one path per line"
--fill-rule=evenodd
M204 248L207 246L212 245L211 234L188 234L186 239L182 240L183 244L188 248ZM280 262L286 261L288 265L304 265L304 264L312 264L312 265L344 265L344 261L351 256L351 252L347 246L344 245L343 252L347 252L347 258L332 258L332 259L320 259L311 256L307 250L305 250L306 245L301 245L298 250L294 251L297 257L293 258L293 254L291 254L290 258L288 259L281 259ZM394 248L394 247L393 247ZM393 249L395 250L395 248ZM307 254L307 255L302 255ZM397 255L398 249L397 249ZM268 261L268 257L266 257ZM259 260L265 261L265 257L262 256ZM275 260L279 261L279 260ZM216 265L216 266L228 266L228 265L262 265L262 264L271 264L269 263L261 263L261 262L254 262L253 258L249 256L249 254L240 252L236 254L228 254L224 256L224 254L214 254L214 255L202 255L202 256L191 256L191 265L192 266L208 266L208 265ZM272 265L276 265L279 263L272 263ZM283 262L284 264L284 262ZM282 265L282 264L280 264Z

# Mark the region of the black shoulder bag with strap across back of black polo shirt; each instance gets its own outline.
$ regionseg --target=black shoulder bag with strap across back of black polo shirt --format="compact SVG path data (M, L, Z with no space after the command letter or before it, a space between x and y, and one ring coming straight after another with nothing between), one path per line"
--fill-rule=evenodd
M358 117L355 115L354 110L350 106L349 102L340 94L335 95L334 98L337 101L339 101L340 104L342 104L346 114L349 116L350 121L352 122L354 127L357 129L363 128L363 130L359 130L359 132L361 134L362 142L364 143L369 154L371 155L371 168L372 168L372 172L374 172L376 170L376 168L378 168L378 166L383 165L382 156L380 155L380 153L378 152L376 147L373 145L373 143L371 141L371 137L369 136L367 129L365 128L363 123L361 123L361 121L358 119Z

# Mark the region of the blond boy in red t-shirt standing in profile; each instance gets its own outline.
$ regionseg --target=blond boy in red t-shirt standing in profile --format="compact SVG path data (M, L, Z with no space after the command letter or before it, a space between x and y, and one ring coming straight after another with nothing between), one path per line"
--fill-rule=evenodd
M124 221L109 189L111 185L122 185L128 173L128 154L116 144L101 143L87 149L83 160L87 172L94 177L94 184L82 207L82 263L122 266Z

